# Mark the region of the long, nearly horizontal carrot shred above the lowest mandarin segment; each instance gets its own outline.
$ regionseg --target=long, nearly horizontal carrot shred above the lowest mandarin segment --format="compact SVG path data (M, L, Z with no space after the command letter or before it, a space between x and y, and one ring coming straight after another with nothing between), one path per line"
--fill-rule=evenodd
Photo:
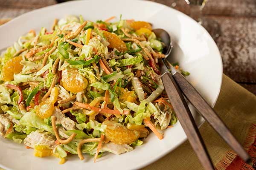
M96 112L99 112L99 113L108 113L108 114L117 114L117 115L121 114L118 110L96 108L96 107L90 106L87 103L75 102L75 105L77 105L81 108L86 108L88 110L96 111ZM122 114L128 114L128 113L129 113L129 111L125 110L125 111L123 111Z

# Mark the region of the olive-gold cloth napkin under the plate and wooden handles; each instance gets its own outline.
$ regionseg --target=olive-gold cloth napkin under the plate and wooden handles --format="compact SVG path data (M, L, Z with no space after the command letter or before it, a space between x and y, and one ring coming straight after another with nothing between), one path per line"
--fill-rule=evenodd
M256 123L256 96L223 75L221 92L214 110L236 139L244 144L250 125ZM217 165L231 148L207 122L201 126L200 133L213 163ZM203 170L203 167L186 141L143 170Z

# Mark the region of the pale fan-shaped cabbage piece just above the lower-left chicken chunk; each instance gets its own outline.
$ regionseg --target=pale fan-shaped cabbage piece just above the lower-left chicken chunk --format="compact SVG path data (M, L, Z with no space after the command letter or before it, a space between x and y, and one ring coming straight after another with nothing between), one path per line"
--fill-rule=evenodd
M38 117L34 112L27 112L21 119L20 125L27 125L37 129L43 129L50 133L54 133L52 127L47 125L43 119Z

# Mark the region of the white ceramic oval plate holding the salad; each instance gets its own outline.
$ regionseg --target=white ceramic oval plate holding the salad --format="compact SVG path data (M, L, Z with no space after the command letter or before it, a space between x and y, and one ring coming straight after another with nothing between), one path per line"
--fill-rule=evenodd
M71 1L46 8L41 8L15 18L0 26L0 49L12 45L20 35L30 29L50 28L54 18L68 14L81 14L85 20L105 20L108 17L145 20L154 28L163 28L169 32L174 42L173 61L191 73L189 81L201 92L212 106L215 104L221 88L222 62L215 42L208 32L185 14L167 6L143 0L88 0ZM198 125L204 120L195 113ZM16 144L0 137L0 167L14 170L128 170L137 169L156 161L179 146L186 135L178 122L173 128L165 130L164 139L159 140L151 133L144 144L122 155L105 154L93 163L91 156L80 161L78 156L71 156L68 161L58 164L55 158L37 158L32 149L25 149L23 144Z

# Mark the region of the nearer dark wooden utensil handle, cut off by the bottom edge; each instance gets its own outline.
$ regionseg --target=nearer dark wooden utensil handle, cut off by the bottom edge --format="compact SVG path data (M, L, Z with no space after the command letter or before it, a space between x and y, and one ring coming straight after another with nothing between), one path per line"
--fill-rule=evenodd
M214 170L214 166L210 159L209 153L207 152L204 141L198 131L198 127L195 124L195 120L193 119L182 92L178 88L172 74L166 72L161 78L166 90L166 94L172 103L178 120L183 127L192 148L201 161L201 164L206 170Z

